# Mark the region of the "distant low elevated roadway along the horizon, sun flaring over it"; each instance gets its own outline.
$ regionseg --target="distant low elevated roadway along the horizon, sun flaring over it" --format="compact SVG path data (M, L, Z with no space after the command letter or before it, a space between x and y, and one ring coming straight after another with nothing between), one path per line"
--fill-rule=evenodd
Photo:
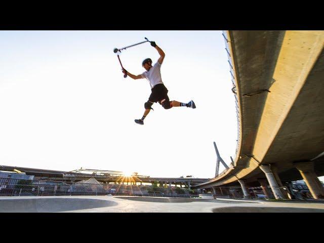
M66 171L54 171L44 169L34 169L25 167L14 166L0 166L0 171L13 172L18 170L26 173L26 175L33 175L35 180L51 180L51 181L66 181L77 182L81 180L87 180L95 178L97 181L103 183L154 183L166 184L166 185L180 185L191 188L192 185L207 182L208 178L191 178L191 177L179 177L179 178L166 178L166 177L150 177L150 176L124 176L120 171L100 171L100 170L75 170L78 172L66 172ZM94 171L92 174L82 173L81 171Z

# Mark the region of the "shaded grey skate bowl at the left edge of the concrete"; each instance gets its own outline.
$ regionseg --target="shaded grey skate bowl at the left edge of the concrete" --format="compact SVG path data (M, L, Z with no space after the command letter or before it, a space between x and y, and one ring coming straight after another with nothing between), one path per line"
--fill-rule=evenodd
M13 198L0 199L0 213L54 213L115 205L114 201L93 198Z

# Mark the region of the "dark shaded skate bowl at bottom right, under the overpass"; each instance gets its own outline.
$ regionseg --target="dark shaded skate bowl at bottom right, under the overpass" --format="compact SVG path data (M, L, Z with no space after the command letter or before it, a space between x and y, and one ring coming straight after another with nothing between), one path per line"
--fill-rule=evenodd
M324 213L324 209L295 207L222 207L213 213Z

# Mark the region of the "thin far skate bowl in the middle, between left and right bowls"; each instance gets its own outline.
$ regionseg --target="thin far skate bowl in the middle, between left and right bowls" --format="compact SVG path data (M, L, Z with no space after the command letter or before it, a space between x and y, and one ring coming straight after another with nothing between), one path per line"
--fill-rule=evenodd
M151 203L191 203L192 201L210 202L210 203L251 203L251 201L226 201L217 199L203 199L203 198L183 198L183 197L148 197L148 196L114 196L115 198L135 200L135 201L149 201ZM255 202L253 202L255 203Z

